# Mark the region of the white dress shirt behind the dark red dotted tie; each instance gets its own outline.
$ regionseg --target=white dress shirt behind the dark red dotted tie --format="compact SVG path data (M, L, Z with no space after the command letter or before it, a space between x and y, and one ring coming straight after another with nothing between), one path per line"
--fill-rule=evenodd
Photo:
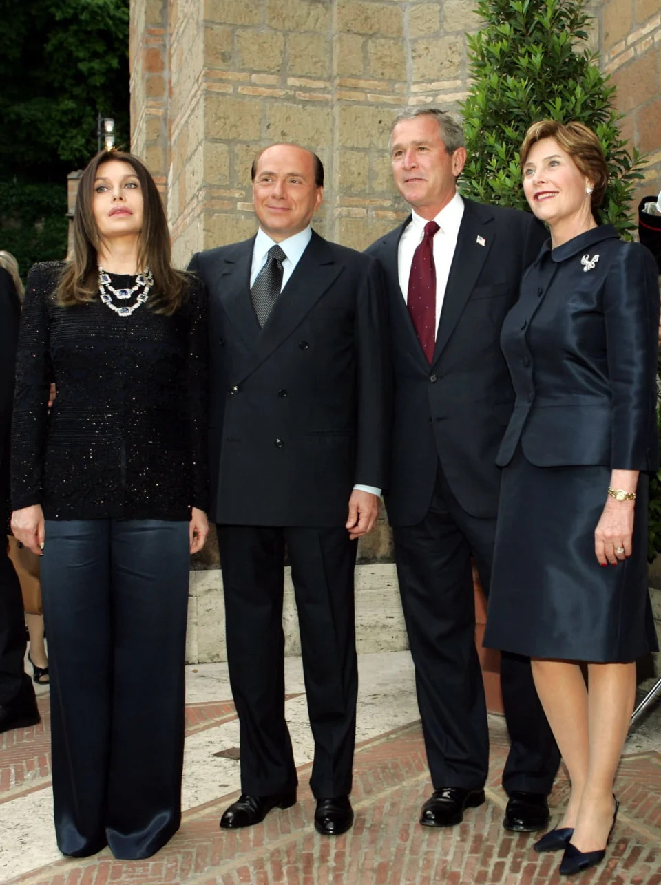
M427 219L421 218L414 210L411 210L411 222L404 227L404 233L399 240L397 252L397 268L399 271L399 286L402 289L404 301L408 303L409 277L411 276L411 264L413 252L419 247L425 235ZM457 235L459 225L464 217L464 201L459 192L455 191L450 203L443 206L441 212L434 221L439 229L434 234L434 266L436 268L436 331L438 321L441 318L441 308L445 297L445 288L450 276L450 265L457 248Z

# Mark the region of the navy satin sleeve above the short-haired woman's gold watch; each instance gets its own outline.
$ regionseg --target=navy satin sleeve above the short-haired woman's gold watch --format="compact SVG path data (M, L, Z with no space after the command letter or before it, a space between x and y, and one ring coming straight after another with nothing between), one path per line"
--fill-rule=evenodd
M613 470L656 471L659 298L654 259L620 243L604 290Z

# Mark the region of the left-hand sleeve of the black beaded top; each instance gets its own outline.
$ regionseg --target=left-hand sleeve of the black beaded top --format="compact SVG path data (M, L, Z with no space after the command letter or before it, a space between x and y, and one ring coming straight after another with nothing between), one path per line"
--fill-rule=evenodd
M12 507L42 504L43 456L48 421L50 330L47 299L55 278L35 265L27 275L19 325L12 417Z

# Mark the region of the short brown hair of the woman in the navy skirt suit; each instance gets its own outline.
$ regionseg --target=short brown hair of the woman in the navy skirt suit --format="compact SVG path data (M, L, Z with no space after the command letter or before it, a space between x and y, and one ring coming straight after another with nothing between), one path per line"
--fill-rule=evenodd
M579 123L578 120L560 123L556 119L541 119L539 122L533 123L528 128L519 151L521 173L523 173L530 149L535 142L541 142L542 138L555 138L565 153L568 153L573 159L579 172L592 182L593 191L590 203L593 214L596 214L599 206L603 203L609 175L602 144L595 133L584 123Z

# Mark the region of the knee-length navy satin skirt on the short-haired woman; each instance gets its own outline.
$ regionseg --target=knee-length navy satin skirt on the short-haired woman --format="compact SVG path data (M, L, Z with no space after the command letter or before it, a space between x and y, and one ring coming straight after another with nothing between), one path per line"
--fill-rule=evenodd
M626 662L657 650L647 584L648 477L632 556L600 566L595 528L611 470L537 467L519 445L503 468L484 644L531 658Z

